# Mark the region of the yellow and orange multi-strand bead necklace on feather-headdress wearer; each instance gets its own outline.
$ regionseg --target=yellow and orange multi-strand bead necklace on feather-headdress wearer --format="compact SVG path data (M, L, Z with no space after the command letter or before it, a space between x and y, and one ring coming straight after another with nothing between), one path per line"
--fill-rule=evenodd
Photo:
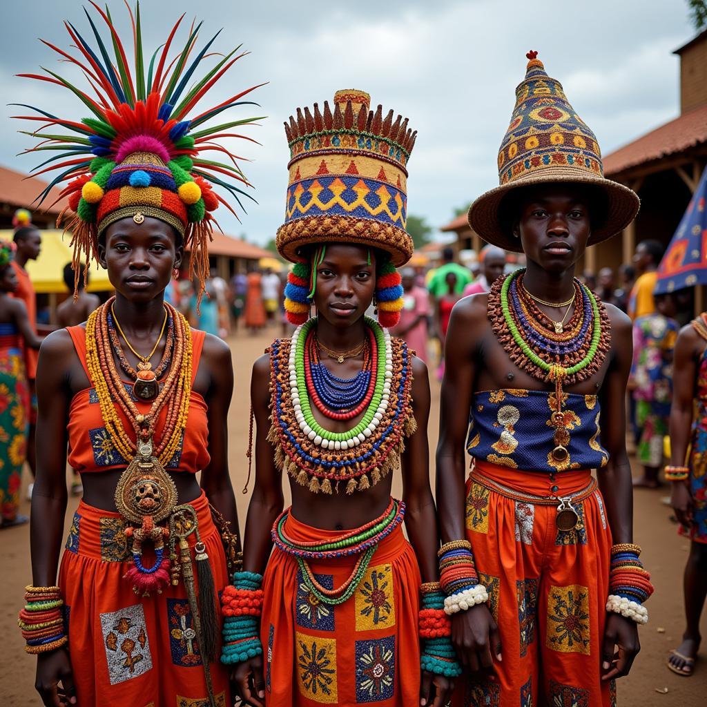
M113 360L112 352L117 348L119 360L124 358L119 339L112 327L110 309L115 298L111 298L95 310L86 322L86 363L95 386L101 414L115 449L126 460L135 456L137 440L151 440L156 433L160 412L167 406L165 423L160 431L160 440L155 455L166 464L175 454L187 426L189 398L192 392L192 335L187 320L172 305L165 303L170 331L173 331L173 351L162 390L151 404L149 411L141 413L132 396L126 390ZM158 370L162 364L158 366ZM119 415L122 410L134 431L135 440L127 432Z

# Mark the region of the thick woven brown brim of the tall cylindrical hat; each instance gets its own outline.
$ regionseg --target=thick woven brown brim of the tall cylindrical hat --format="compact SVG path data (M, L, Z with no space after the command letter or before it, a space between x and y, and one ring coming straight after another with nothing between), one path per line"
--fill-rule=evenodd
M412 257L414 246L402 228L351 216L305 216L280 226L276 246L279 254L293 263L303 262L307 247L322 243L346 243L375 248L390 254L395 267Z

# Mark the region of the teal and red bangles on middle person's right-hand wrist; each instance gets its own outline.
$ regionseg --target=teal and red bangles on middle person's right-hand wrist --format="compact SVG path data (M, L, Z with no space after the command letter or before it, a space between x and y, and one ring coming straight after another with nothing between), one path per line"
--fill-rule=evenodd
M421 585L420 594L420 667L435 675L457 677L462 674L462 668L450 638L452 621L445 613L445 593L440 583L428 582Z

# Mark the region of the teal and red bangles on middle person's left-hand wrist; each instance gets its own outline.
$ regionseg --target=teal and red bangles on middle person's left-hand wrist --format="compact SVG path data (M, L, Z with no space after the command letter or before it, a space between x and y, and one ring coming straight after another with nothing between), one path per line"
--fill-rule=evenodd
M255 572L233 573L233 585L223 590L223 648L221 662L235 665L262 655L260 614L263 607L262 575Z

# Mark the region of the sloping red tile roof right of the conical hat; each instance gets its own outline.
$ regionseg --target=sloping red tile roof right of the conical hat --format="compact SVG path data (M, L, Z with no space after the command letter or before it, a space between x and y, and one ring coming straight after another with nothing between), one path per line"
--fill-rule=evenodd
M604 157L604 174L632 167L707 143L707 105L695 108Z

